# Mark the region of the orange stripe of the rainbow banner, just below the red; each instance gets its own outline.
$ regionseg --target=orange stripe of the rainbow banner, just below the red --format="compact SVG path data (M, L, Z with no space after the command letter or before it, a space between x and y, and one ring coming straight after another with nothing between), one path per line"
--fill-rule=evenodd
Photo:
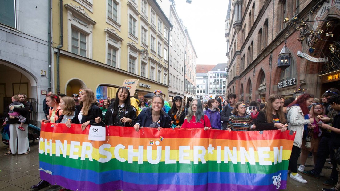
M88 135L74 135L70 133L49 133L49 132L43 132L43 134L40 136L42 138L51 139L52 137L58 137L54 138L57 140L60 140L62 143L64 143L65 140L68 141L68 144L70 144L69 141L80 141L80 142L91 142L93 148L99 148L103 144L111 144L112 147L115 147L118 144L122 144L124 146L127 145L133 145L134 148L138 148L138 145L145 145L149 146L150 141L153 141L153 145L156 145L156 141L159 141L158 146L170 146L172 149L178 149L179 146L186 146L186 145L206 145L207 141L209 139L206 138L181 138L176 139L174 141L174 138L164 138L162 141L158 138L126 138L126 137L117 137L117 136L106 136L105 141L92 141L88 140ZM55 140L52 141L55 143ZM228 146L229 148L249 148L254 147L254 151L257 150L258 147L268 147L268 145L278 145L277 142L281 142L284 150L291 150L291 147L289 148L288 145L291 142L291 140L228 140L228 139L210 139L209 144L211 144L212 147L216 146ZM138 143L138 144L137 144ZM81 144L82 145L82 144ZM156 147L155 147L156 149ZM216 149L216 148L215 148ZM221 148L222 150L224 148Z

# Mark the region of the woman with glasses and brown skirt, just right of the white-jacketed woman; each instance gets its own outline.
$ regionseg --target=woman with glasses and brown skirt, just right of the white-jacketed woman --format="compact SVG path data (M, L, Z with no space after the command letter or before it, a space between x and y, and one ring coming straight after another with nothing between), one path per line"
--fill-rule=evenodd
M313 103L308 116L310 118L313 118L314 121L311 123L311 125L308 126L308 129L304 131L304 135L307 135L307 137L311 137L312 139L309 141L310 147L306 147L306 142L307 142L306 138L302 140L302 145L301 145L302 152L300 154L301 165L299 166L299 169L297 169L300 172L304 171L305 169L304 164L306 163L308 154L311 151L313 151L312 154L313 154L314 164L317 164L317 152L318 152L319 142L321 140L320 136L322 134L321 129L318 126L318 122L321 120L320 118L326 116L325 108L320 103Z

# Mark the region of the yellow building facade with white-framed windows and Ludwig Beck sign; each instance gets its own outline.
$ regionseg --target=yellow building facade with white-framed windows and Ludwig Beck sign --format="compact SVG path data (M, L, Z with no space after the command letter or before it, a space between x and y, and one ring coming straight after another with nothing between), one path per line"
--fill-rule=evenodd
M56 92L70 96L86 87L97 99L115 98L125 79L139 79L136 98L157 89L168 98L171 26L156 1L52 3Z

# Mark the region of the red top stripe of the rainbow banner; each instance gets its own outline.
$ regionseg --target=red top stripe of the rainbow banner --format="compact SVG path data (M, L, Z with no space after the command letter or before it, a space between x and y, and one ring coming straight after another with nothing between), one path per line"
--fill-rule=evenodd
M80 124L72 124L71 128L66 127L65 124L62 123L42 123L41 130L46 132L55 132L55 133L73 133L73 134L83 134L88 135L89 126L86 127L84 131L81 130ZM282 134L276 134L275 131L252 131L252 132L237 132L237 131L225 131L225 130L214 130L209 129L207 131L201 131L201 129L172 129L172 128L164 128L161 129L160 132L157 132L156 128L142 128L139 132L136 132L133 127L120 127L120 126L108 126L106 127L106 136L120 136L120 137L137 137L137 138L154 138L155 136L162 134L162 131L172 131L173 133L167 132L167 135L171 135L171 137L165 138L211 138L211 139L229 139L229 140L267 140L268 137L272 140L277 139L287 139L294 140L295 136L289 136L289 131L283 132ZM148 131L148 133L143 133L144 131ZM190 133L185 133L185 132ZM210 133L211 131L215 131L215 133ZM260 133L264 133L266 136L258 136ZM192 137L192 135L196 135L196 137Z

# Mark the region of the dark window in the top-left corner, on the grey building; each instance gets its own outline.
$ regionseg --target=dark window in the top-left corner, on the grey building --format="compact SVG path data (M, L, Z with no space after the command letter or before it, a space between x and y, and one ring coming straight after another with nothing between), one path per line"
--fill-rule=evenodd
M0 1L0 23L16 28L16 0Z

